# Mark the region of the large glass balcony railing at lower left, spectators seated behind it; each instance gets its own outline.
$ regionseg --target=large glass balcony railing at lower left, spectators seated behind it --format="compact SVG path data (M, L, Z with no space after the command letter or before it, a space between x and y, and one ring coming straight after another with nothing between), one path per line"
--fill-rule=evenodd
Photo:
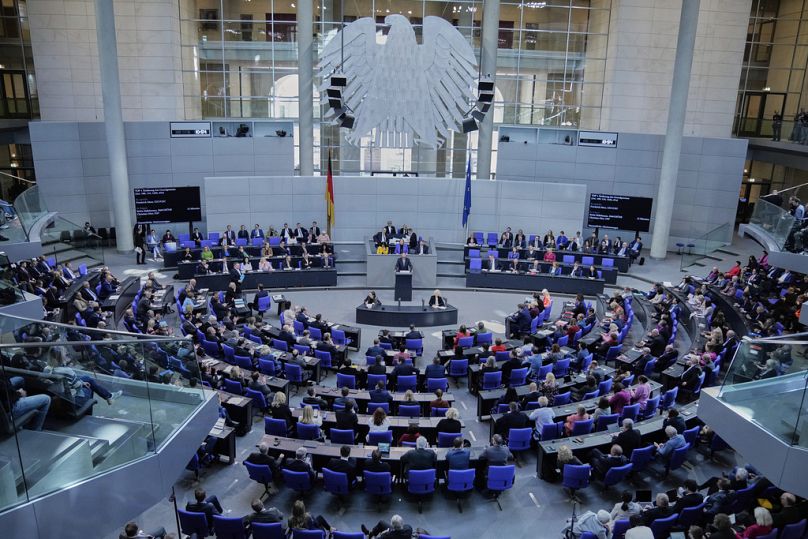
M0 512L155 453L210 398L190 339L0 316Z

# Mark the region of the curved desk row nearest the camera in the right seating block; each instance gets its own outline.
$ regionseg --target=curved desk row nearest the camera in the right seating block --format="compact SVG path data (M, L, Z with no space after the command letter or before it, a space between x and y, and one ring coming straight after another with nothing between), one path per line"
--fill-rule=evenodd
M679 413L685 418L685 422L690 426L697 419L698 401L692 402L679 408ZM643 446L650 445L654 441L662 442L665 435L662 423L667 415L656 415L651 419L636 421L634 430L642 435ZM560 438L539 442L538 455L536 459L536 475L545 481L556 481L559 478L558 470L558 448L567 445L572 449L573 454L579 458L587 458L590 451L599 448L604 453L608 453L612 445L612 435L609 431L593 432L571 438Z

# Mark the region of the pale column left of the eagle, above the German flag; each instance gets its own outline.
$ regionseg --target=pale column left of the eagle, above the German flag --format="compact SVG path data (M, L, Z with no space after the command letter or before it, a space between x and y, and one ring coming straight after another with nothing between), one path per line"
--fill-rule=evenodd
M314 174L314 51L312 0L297 3L297 88L300 111L300 175Z

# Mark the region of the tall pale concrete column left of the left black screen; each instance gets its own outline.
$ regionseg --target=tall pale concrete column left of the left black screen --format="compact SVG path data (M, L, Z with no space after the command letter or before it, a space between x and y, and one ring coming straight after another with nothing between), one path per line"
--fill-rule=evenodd
M109 180L112 213L117 230L118 251L134 248L132 208L129 200L129 170L126 165L126 137L121 112L121 84L118 78L118 42L115 36L113 0L95 0L95 31L98 38L98 64L104 101L104 127L107 132Z

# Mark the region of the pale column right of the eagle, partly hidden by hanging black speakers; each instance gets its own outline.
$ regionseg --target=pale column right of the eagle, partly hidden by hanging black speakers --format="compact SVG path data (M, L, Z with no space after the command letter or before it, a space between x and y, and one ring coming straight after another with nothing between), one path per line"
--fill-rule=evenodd
M480 42L480 74L496 80L497 46L499 44L499 0L485 0L483 4L483 29ZM480 124L477 146L477 179L491 178L491 147L494 136L494 106L488 110Z

